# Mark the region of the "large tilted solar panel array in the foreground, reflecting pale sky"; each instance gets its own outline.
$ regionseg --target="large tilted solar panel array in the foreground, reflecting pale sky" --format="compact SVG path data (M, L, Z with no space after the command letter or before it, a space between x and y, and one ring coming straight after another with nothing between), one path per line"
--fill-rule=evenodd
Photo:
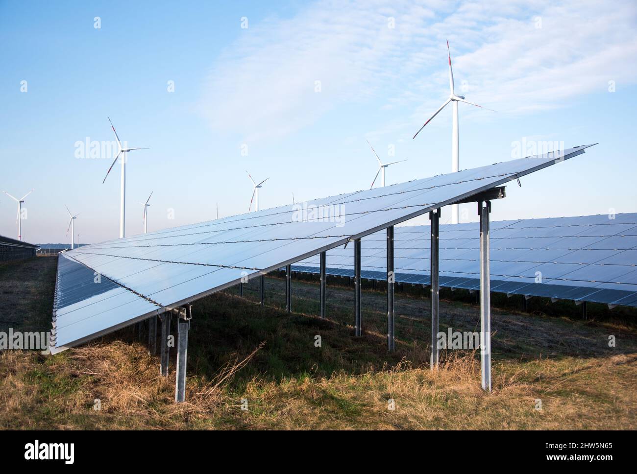
M125 304L131 310L124 312L99 300L64 315L57 310L55 347L80 344L120 328L126 321L134 323L157 308L162 312L178 307L233 286L243 276L252 278L342 246L349 239L580 155L589 146L67 251L61 258L81 263L101 275L102 281L120 287L111 291L128 291L135 298L130 296ZM65 278L59 275L59 279ZM106 305L111 308L105 312ZM132 309L134 305L140 308Z

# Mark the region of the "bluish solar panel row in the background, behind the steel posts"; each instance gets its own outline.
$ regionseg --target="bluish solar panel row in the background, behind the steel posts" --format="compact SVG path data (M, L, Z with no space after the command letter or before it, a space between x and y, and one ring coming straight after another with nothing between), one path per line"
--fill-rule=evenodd
M440 286L480 289L478 223L440 226ZM361 240L361 276L385 280L384 232ZM430 283L429 226L394 228L396 281ZM637 214L490 223L491 291L637 307ZM318 272L318 257L292 266ZM353 276L353 250L327 252L326 272Z

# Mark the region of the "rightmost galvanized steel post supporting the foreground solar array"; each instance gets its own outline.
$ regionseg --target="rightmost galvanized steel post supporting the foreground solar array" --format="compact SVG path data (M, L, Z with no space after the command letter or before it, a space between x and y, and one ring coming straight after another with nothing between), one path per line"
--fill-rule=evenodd
M488 392L491 391L490 212L490 201L478 201L478 214L480 215L480 359L482 389Z

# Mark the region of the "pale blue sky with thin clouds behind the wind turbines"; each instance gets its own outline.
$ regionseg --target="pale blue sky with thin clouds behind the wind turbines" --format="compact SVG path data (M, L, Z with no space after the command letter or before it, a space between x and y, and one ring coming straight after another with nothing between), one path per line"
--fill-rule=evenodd
M450 107L412 140L448 95L447 39L456 92L497 110L460 104L461 169L522 140L599 142L508 186L493 219L637 211L631 1L0 2L0 190L34 188L27 241L69 240L64 204L80 242L117 237L119 165L102 184L114 155L75 156L113 140L107 116L151 147L129 155L127 235L151 191L149 230L215 218L217 202L247 212L245 169L270 178L262 209L368 188L366 139L408 159L388 185L449 172ZM15 237L15 214L0 195L0 234Z

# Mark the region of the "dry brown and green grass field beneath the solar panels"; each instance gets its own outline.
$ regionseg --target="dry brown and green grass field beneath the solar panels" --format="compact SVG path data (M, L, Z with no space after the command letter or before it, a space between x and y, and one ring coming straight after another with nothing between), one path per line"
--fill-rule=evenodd
M0 264L0 330L48 331L54 282L54 258ZM448 351L429 370L426 298L396 293L397 350L388 354L382 291L363 292L357 338L351 288L328 287L327 320L317 317L315 283L295 280L292 289L292 314L281 309L285 287L276 278L266 279L264 309L256 280L243 298L231 289L194 304L187 403L179 405L175 351L164 379L133 328L55 356L3 351L0 428L637 428L633 323L493 309L487 394L473 351ZM441 301L447 326L478 330L479 307Z

